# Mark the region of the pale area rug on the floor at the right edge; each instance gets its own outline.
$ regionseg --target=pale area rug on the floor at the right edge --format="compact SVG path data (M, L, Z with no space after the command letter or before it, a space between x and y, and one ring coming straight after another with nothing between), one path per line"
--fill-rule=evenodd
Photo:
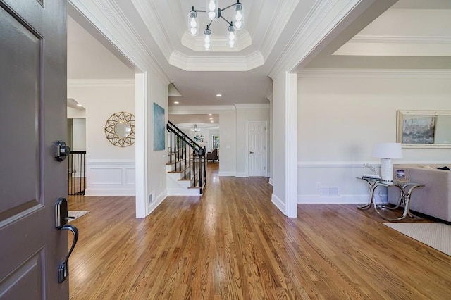
M451 256L451 226L436 223L383 223L407 237Z

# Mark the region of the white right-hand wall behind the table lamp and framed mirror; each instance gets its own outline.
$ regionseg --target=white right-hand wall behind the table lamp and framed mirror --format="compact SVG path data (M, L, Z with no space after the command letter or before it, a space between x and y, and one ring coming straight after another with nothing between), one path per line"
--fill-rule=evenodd
M299 203L366 202L366 183L355 177L369 173L364 163L380 166L371 157L373 145L395 142L397 110L449 111L450 79L447 71L301 73ZM395 163L450 163L451 149L403 149L403 156Z

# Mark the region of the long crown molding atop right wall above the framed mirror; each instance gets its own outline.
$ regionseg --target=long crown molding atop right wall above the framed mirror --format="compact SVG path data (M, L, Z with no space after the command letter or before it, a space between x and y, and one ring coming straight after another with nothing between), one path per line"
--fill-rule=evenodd
M448 79L451 70L304 69L298 78L418 78Z

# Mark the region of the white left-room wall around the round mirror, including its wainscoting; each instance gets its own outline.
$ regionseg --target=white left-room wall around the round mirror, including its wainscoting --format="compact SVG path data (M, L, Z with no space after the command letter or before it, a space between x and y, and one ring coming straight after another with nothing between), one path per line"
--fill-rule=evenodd
M113 113L135 113L133 80L69 80L68 97L86 109L87 196L135 195L135 146L106 139Z

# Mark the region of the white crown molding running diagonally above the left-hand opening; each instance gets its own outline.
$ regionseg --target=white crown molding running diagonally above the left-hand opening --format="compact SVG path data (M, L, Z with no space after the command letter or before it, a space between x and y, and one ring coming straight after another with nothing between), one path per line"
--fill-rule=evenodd
M69 4L138 69L154 73L166 84L171 82L152 51L148 49L115 2L69 0Z

